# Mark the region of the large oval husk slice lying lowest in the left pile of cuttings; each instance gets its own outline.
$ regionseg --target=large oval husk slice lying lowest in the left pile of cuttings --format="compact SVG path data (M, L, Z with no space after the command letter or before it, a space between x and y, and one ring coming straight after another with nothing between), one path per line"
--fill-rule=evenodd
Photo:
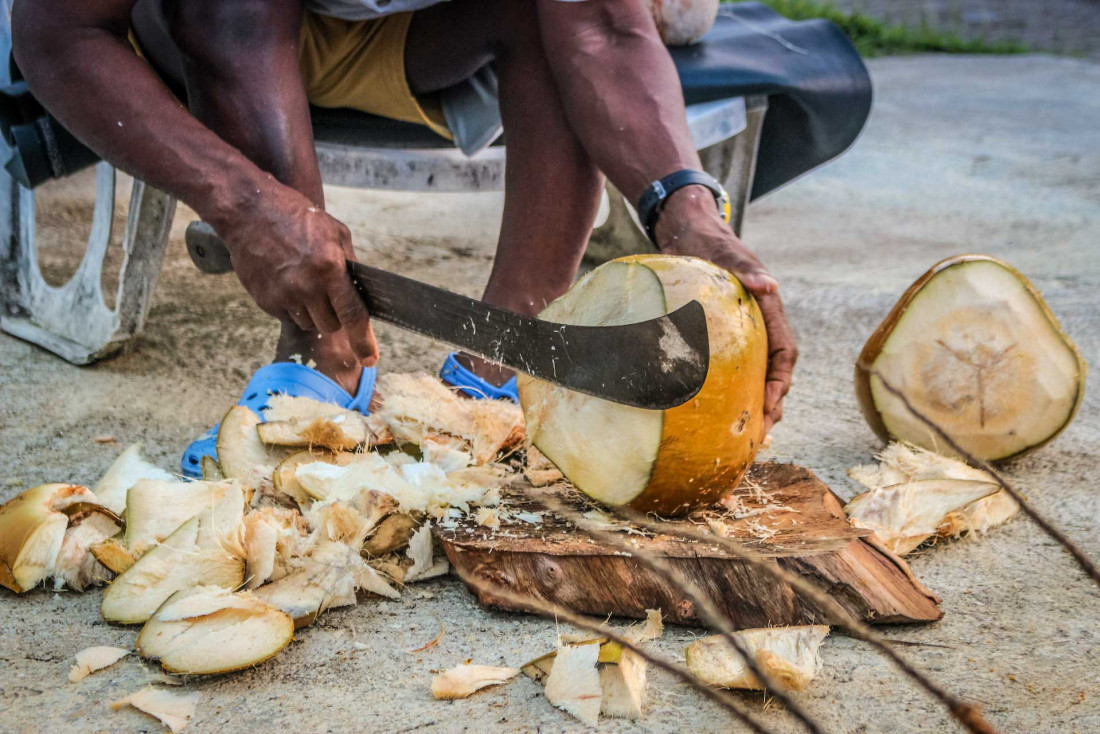
M145 623L138 654L168 672L211 675L274 657L294 637L294 620L246 591L180 591Z

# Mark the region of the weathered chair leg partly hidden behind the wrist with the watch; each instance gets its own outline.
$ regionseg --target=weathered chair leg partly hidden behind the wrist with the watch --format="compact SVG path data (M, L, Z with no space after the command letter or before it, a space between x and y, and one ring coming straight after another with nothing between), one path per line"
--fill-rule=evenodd
M741 234L745 209L752 195L752 178L756 174L757 151L760 147L760 131L768 113L767 97L748 97L745 100L746 127L738 134L698 152L703 169L722 182L729 193L729 223ZM610 183L604 191L607 204L607 219L592 232L584 260L590 265L632 255L657 252L638 222L634 207Z

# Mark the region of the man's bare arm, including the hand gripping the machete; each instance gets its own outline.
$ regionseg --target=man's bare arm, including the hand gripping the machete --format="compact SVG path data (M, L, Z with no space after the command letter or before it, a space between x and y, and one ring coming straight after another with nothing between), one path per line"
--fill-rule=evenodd
M133 0L16 2L16 61L35 96L105 160L162 188L215 226L261 308L307 330L348 328L377 359L344 271L348 229L279 184L172 96L128 42Z

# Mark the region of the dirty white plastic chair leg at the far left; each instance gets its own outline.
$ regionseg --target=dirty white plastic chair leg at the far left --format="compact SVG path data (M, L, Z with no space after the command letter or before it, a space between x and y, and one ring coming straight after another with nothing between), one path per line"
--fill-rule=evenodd
M96 169L96 206L84 260L73 278L53 287L38 269L34 235L34 193L8 180L13 191L9 217L0 207L0 242L7 244L0 329L33 342L74 364L89 364L124 349L141 331L164 260L175 199L135 180L122 241L123 261L114 308L102 293L103 256L114 213L114 169Z

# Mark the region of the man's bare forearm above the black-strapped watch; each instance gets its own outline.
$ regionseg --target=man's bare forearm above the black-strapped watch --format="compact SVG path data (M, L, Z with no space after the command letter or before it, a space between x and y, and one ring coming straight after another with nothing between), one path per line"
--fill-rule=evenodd
M543 45L570 123L631 201L698 168L675 66L642 0L540 0Z

